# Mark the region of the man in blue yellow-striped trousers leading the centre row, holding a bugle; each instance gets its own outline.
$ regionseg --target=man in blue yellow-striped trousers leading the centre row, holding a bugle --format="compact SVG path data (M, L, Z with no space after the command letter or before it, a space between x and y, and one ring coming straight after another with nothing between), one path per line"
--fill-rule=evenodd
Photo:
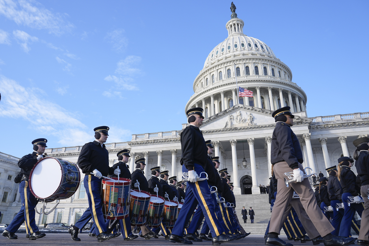
M225 235L223 227L217 220L207 181L197 181L199 174L207 165L207 147L199 129L204 119L202 112L203 109L199 107L187 110L190 125L183 129L180 136L182 172L188 173L189 181L187 182L186 199L169 238L172 243L192 244L191 241L182 238L183 229L197 205L206 211L204 216L213 236L213 244L225 243L237 238L237 236Z

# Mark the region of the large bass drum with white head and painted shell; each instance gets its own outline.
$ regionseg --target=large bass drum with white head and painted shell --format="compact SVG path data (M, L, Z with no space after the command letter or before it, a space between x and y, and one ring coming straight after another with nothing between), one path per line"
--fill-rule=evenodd
M35 197L52 202L71 197L77 191L80 180L81 174L76 164L45 157L32 168L28 184Z

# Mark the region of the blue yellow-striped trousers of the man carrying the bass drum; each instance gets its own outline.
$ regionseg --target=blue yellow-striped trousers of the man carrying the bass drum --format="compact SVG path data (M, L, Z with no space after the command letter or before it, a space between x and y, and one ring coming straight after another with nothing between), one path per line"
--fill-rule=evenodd
M37 200L30 191L28 181L22 181L19 185L19 194L22 199L21 210L15 215L13 221L6 228L7 231L15 233L19 227L25 222L25 230L27 234L38 232L35 221L35 207Z

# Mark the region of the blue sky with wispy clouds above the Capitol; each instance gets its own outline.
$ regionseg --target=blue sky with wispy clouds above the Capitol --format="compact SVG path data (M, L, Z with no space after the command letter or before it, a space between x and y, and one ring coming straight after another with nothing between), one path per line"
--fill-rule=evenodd
M180 130L192 84L227 37L231 1L0 0L0 151ZM308 96L308 116L367 112L368 1L234 1Z

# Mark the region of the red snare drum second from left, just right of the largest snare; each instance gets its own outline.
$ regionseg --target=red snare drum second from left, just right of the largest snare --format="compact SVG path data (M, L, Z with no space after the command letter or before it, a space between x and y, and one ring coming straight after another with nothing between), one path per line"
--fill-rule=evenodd
M143 226L146 223L151 194L146 191L131 190L130 218L132 226Z

